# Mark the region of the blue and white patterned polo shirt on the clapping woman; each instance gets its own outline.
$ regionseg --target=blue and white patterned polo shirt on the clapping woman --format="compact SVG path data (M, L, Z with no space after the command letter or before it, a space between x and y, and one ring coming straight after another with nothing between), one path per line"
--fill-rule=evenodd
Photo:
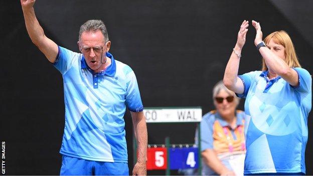
M311 110L310 74L302 68L299 85L293 87L277 77L268 80L267 71L239 76L244 84L246 158L244 174L286 172L305 173L307 116Z

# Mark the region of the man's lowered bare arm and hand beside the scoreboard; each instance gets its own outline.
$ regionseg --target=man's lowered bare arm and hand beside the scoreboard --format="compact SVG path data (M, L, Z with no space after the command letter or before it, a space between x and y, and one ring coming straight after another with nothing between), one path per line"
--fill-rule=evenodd
M133 175L146 175L147 129L143 112L130 112L134 133L137 139L137 162L132 170Z

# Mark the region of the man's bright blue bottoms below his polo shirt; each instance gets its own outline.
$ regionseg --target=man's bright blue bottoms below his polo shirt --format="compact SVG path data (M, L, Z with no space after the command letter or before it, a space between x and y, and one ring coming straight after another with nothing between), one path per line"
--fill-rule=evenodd
M60 175L128 175L128 164L91 161L62 155Z

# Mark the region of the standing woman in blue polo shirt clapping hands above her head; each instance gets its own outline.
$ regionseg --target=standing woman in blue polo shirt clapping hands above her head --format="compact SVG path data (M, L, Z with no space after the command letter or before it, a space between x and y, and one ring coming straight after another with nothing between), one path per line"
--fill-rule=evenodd
M311 76L301 68L286 32L273 32L263 42L260 24L252 21L252 25L254 44L263 57L262 71L237 76L249 26L243 21L224 75L226 87L246 98L244 174L305 174Z

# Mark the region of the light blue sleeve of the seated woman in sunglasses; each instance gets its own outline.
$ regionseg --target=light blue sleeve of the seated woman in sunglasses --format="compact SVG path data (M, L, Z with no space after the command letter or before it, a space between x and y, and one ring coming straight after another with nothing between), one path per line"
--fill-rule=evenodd
M212 114L202 118L200 122L201 128L201 151L213 149L213 124L214 119Z

